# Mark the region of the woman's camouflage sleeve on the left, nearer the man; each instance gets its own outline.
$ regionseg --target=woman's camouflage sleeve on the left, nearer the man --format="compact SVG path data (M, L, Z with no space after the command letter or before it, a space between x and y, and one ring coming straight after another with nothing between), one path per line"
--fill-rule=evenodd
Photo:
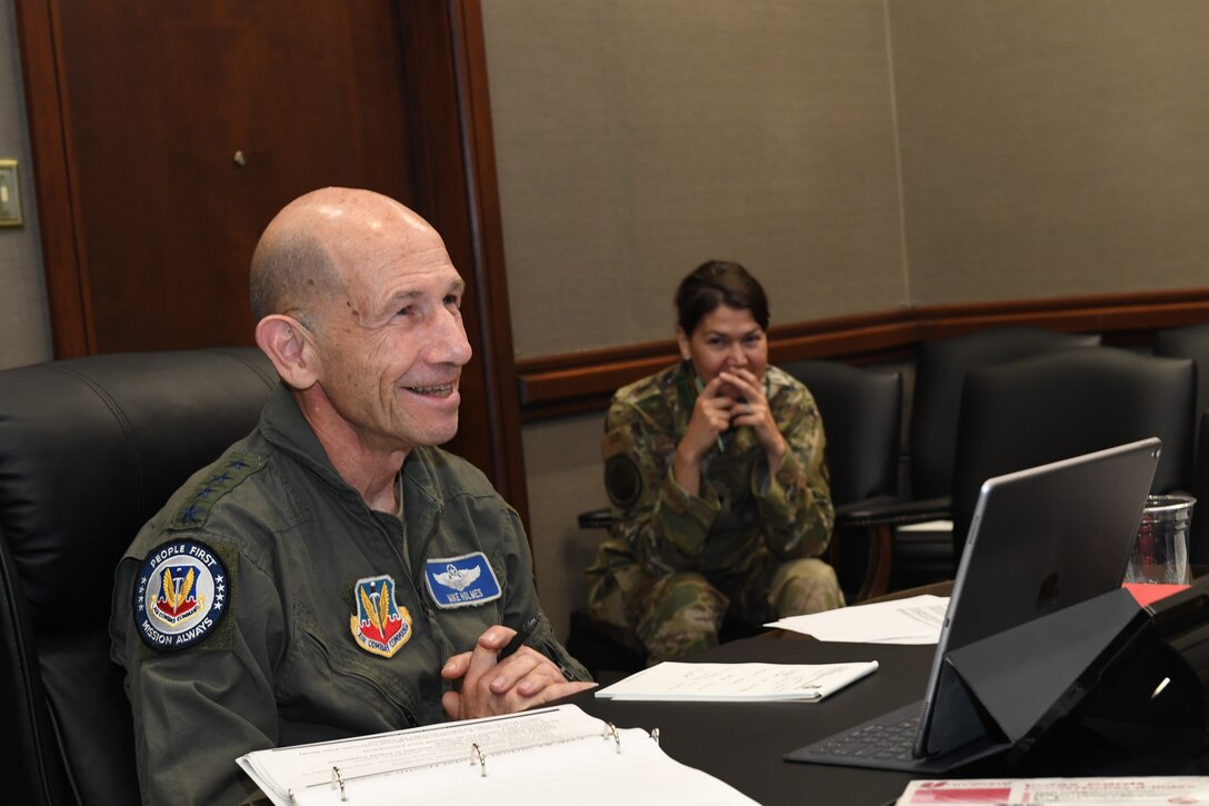
M672 476L677 438L635 407L614 401L604 419L604 487L613 502L613 536L648 571L695 568L721 511L717 493L690 495Z

